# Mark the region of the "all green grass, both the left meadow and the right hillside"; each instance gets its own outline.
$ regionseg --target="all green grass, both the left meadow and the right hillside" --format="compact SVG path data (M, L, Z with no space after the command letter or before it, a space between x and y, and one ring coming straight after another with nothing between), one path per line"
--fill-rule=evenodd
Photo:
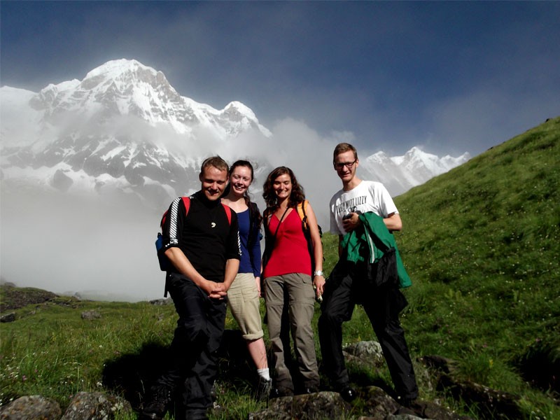
M401 316L412 357L456 360L463 379L520 395L526 419L560 418L559 192L555 118L395 199L404 223L395 235L413 281ZM325 233L323 244L328 273L337 237ZM85 321L85 310L102 318ZM151 346L165 349L176 321L172 305L148 303L72 301L16 312L17 321L0 327L0 403L41 394L63 409L77 391L114 392L104 385L107 367L149 355ZM226 326L235 328L231 316ZM344 324L344 342L367 339L374 333L358 307ZM318 339L316 350L321 362ZM544 370L544 377L524 377L524 365ZM386 369L349 370L353 378L391 386ZM551 370L556 383L547 388ZM421 398L442 398L419 381ZM265 408L248 396L250 384L224 378L219 384L225 411L213 419L246 418ZM477 417L475 407L449 398L444 404ZM357 418L362 405L356 402L348 418Z

